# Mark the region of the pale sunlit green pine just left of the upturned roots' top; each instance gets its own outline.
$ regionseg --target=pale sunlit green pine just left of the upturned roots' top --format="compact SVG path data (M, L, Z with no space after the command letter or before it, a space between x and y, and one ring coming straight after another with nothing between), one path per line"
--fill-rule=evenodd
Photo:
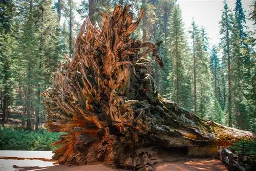
M38 130L39 115L43 113L41 105L41 92L50 84L51 72L57 67L60 55L61 46L59 45L59 25L57 24L58 17L53 13L51 1L41 2L38 4L38 14L40 16L39 26L39 59L37 67L36 79L36 100L35 106L35 129Z

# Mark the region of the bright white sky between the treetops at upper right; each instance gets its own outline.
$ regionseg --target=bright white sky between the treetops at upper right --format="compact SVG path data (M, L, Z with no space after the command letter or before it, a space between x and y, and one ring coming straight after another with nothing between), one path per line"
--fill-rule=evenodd
M249 6L252 0L242 0L243 9L246 15L249 14ZM228 8L234 9L235 0L227 0ZM189 30L192 23L192 18L199 26L205 28L208 33L210 45L218 45L220 42L219 22L221 20L221 10L223 9L223 0L178 0L182 10L182 18L185 23L186 30ZM253 30L252 22L247 20L246 25L249 30Z

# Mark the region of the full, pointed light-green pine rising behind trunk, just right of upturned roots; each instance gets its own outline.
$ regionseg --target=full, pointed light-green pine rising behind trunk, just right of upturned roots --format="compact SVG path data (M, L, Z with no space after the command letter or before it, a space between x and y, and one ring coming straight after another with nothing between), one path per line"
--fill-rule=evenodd
M190 77L187 74L186 62L189 58L187 40L184 32L184 23L182 21L181 9L179 5L174 7L172 17L170 18L169 32L169 55L172 63L170 63L170 75L168 81L170 84L170 98L178 104L191 110L191 84Z

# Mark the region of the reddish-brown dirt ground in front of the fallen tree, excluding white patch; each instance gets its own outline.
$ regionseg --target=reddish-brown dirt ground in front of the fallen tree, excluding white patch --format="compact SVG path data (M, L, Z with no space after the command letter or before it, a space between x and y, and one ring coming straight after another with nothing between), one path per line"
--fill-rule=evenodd
M115 169L104 164L83 165L83 166L66 166L55 165L47 167L19 167L13 166L15 170L44 170L44 171L125 171L124 169ZM156 171L190 171L190 170L209 170L224 171L226 166L218 159L189 159L176 162L157 163Z

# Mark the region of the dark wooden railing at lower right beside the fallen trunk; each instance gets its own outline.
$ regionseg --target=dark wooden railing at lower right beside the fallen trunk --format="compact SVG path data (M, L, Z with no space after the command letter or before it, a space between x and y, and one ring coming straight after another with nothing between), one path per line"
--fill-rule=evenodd
M246 171L245 167L239 163L239 161L235 161L234 158L237 158L228 148L221 146L218 147L218 153L220 154L219 158L222 163L227 164L228 171L231 170L240 170ZM240 157L238 157L240 158Z

